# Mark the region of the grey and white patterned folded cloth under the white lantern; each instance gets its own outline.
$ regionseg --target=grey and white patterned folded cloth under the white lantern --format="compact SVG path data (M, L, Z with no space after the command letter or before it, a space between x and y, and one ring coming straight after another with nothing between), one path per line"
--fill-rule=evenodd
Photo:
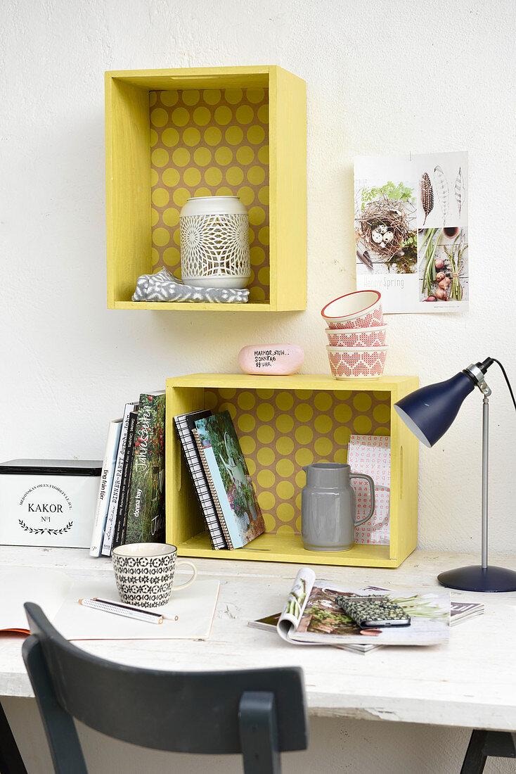
M246 303L247 288L194 288L185 285L168 269L156 274L142 274L136 282L133 301L193 301L195 303Z

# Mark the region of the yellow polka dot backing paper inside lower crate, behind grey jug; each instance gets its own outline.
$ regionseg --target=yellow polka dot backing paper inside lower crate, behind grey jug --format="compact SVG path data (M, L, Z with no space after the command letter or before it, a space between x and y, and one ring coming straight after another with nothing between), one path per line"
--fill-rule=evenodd
M205 407L228 411L268 533L301 532L302 467L347 462L352 434L391 434L390 393L206 389Z

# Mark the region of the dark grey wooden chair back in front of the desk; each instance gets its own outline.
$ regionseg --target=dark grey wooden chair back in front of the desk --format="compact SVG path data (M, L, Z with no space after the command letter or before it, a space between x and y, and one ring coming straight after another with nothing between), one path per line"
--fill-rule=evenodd
M299 667L221 672L143 670L67 642L25 605L22 654L57 774L87 774L73 717L101 733L169 752L241 753L245 774L278 774L279 753L304 750Z

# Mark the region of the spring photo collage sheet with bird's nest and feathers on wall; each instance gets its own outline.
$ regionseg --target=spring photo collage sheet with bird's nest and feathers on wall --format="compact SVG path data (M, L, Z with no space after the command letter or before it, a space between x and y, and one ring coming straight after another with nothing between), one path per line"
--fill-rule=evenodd
M355 159L357 290L385 313L467 307L467 173L467 152Z

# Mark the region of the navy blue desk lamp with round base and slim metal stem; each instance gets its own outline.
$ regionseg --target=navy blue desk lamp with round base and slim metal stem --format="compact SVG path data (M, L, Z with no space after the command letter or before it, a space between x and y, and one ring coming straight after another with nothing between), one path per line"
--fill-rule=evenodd
M490 388L485 382L487 368L497 363L505 377L516 409L516 401L504 366L494 358L476 363L463 371L435 385L422 387L411 392L395 403L398 416L405 422L425 446L432 447L453 423L463 400L475 387L484 395L482 413L482 563L470 567L459 567L441 573L437 580L443 586L463 591L516 591L516 572L504 567L490 567L487 563L487 477L489 450L489 396Z

